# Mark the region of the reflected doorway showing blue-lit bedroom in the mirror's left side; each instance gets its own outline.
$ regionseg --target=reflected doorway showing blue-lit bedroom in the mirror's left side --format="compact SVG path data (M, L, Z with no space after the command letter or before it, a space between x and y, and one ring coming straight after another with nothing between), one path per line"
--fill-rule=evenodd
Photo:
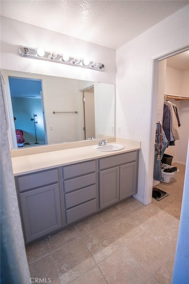
M45 145L41 80L9 76L17 146Z

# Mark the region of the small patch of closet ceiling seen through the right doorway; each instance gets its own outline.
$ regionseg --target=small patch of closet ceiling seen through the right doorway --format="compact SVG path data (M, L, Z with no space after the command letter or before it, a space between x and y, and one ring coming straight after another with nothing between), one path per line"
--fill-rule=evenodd
M167 66L181 71L189 70L189 51L167 58Z

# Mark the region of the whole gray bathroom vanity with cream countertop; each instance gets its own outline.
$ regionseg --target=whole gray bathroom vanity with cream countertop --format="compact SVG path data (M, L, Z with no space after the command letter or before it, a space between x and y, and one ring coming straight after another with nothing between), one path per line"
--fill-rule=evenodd
M140 146L124 146L112 152L87 146L12 158L25 243L135 194Z

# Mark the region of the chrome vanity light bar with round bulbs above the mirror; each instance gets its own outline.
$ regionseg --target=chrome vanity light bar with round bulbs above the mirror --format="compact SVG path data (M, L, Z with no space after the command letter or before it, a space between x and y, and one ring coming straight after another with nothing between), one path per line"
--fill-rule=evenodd
M67 54L58 54L56 51L44 51L42 48L35 49L27 46L19 46L18 52L22 57L59 62L98 71L105 70L104 64L98 63L97 61L79 59L77 57L68 56Z

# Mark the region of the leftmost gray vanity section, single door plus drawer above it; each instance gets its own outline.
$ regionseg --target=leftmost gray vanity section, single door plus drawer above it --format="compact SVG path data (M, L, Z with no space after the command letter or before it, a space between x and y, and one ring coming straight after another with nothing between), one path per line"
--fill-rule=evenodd
M58 168L16 178L26 243L63 227L58 181Z

